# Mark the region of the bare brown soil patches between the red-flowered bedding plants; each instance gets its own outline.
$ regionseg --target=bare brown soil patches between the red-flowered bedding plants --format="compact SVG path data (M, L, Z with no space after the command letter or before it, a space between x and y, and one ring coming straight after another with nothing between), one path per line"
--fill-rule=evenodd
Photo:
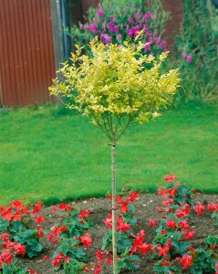
M139 232L140 229L145 230L145 241L151 243L154 237L154 230L159 226L160 214L155 209L156 206L161 205L162 198L159 195L140 195L140 198L134 203L136 207L136 216L138 218L138 224L134 227L134 232ZM194 202L201 202L204 205L207 203L217 203L218 195L205 195L197 194L194 198ZM93 243L90 248L87 248L86 252L90 261L95 261L96 248L101 248L102 238L105 233L108 231L108 228L102 222L102 219L106 218L109 214L109 200L108 198L91 198L83 201L71 202L70 205L77 206L79 209L91 210L91 219L95 224L95 228L90 230L90 235L93 239ZM47 222L44 227L47 231L50 230L50 227L57 226L59 220L57 216L52 215L51 208L47 207L42 210L42 214L46 217ZM156 221L155 227L148 227L148 221L150 218L154 218ZM211 213L204 211L202 216L196 216L193 214L189 224L192 227L192 230L196 231L194 239L192 239L192 246L197 248L201 246L203 238L207 235L217 235L218 228L214 226L214 220L211 219ZM39 274L49 274L54 273L50 259L43 260L44 256L52 257L54 252L53 244L49 243L47 239L42 239L44 246L43 252L34 259L22 258L20 263L26 265L30 269L36 270ZM138 269L134 271L135 274L147 273L153 274L154 262L151 261L149 256L145 256L143 261L139 264ZM146 269L146 271L144 270ZM56 273L61 273L57 271ZM62 272L63 273L63 272ZM109 269L104 269L103 274L111 273ZM127 273L127 272L122 272ZM130 272L129 272L130 273Z

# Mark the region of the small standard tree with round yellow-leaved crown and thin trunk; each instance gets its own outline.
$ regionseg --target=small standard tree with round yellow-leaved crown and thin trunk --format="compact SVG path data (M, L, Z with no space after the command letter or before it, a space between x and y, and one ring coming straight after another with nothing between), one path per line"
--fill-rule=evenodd
M142 55L140 42L123 46L90 42L92 57L81 55L77 47L70 63L60 68L51 94L67 97L67 108L88 116L108 137L111 145L113 273L118 273L115 148L127 128L159 116L161 107L171 102L178 86L176 69L161 73L167 58Z

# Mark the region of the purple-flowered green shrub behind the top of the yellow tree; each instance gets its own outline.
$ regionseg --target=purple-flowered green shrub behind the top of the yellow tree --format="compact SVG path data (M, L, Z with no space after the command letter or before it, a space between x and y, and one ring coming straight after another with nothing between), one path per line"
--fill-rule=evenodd
M89 8L85 24L72 26L67 33L78 45L88 45L88 41L98 36L108 45L122 45L125 40L134 40L141 30L140 41L145 54L158 55L168 51L167 42L163 38L163 24L169 14L164 11L160 0L102 0L97 8ZM85 51L88 48L85 46Z

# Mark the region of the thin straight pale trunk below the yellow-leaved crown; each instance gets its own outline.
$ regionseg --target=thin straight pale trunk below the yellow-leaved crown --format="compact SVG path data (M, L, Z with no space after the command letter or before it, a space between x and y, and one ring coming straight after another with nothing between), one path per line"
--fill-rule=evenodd
M112 142L111 143L111 182L112 182L113 274L118 274L115 155L116 155L116 143Z

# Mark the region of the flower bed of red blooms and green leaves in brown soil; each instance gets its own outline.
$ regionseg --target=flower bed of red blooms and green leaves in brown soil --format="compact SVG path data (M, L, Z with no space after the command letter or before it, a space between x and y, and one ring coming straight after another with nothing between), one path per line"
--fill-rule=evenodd
M124 191L117 197L119 268L122 273L127 269L135 273L145 269L146 273L216 273L217 196L192 194L186 186L171 183L172 175L165 180L169 183L159 195ZM53 268L57 273L77 273L76 269L110 273L111 219L106 199L52 208L42 208L39 202L27 209L19 201L2 206L1 234L10 234L10 238L1 237L1 259L7 269L16 255L16 266L28 269L13 273L35 273L30 269L51 273ZM24 255L25 249L30 258ZM5 256L5 252L10 254Z

